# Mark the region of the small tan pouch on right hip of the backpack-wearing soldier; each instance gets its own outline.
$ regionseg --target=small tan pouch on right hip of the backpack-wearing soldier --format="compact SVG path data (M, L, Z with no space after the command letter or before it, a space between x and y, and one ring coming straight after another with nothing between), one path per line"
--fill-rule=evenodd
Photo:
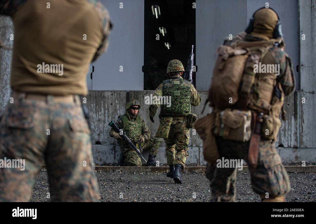
M264 115L261 125L261 137L264 139L273 139L276 141L280 128L281 120L279 118Z

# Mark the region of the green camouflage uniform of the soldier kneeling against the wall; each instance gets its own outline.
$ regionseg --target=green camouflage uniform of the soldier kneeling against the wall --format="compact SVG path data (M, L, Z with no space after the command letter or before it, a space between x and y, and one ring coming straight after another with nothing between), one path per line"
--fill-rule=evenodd
M133 142L133 144L138 148L135 140L138 140L142 135L145 139L141 143L142 151L150 149L149 154L157 155L159 150L160 141L155 138L150 138L151 131L146 125L145 121L139 116L132 116L129 112L125 115L122 115L122 118L119 120L118 125L121 128L124 128L126 131L127 137ZM113 134L116 133L113 128L111 128L110 136L113 137ZM121 146L121 153L125 156L125 163L129 166L142 166L141 158L124 140L118 139L118 143Z

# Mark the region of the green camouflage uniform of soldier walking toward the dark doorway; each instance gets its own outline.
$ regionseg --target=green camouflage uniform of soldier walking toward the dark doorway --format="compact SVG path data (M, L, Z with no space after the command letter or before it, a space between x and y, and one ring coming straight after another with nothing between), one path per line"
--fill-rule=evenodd
M177 61L177 60L175 60ZM181 62L180 62L181 63ZM169 63L170 64L170 63ZM182 65L182 64L181 64ZM177 97L173 95L175 89L172 89L172 82L183 82L182 90L183 96ZM169 89L169 87L171 89ZM165 80L155 90L154 96L171 96L171 107L162 105L159 117L174 117L171 123L168 138L166 142L166 157L168 165L181 164L185 166L186 158L188 157L188 145L190 128L187 127L187 115L190 114L191 105L198 106L201 103L201 97L194 86L180 75L174 75L171 79ZM149 116L154 117L160 104L152 104L149 106ZM183 111L179 113L177 111ZM186 111L185 111L186 110ZM174 113L173 113L174 112ZM185 117L177 118L177 117Z

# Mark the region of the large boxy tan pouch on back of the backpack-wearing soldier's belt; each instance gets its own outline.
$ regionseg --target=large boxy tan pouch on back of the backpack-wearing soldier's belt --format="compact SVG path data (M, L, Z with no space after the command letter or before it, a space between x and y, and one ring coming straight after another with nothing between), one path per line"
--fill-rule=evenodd
M249 141L251 138L251 111L225 109L216 113L214 134L227 140Z

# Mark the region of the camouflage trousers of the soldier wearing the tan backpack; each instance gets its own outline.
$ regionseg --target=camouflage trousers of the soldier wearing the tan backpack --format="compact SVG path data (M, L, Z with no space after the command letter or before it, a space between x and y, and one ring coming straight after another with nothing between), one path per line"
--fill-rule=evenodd
M237 142L216 137L220 158L243 159L248 163L248 142ZM213 202L234 202L237 167L218 168L217 163L208 164L206 176L211 181L211 200ZM290 191L289 176L285 171L274 142L260 140L258 165L249 167L252 189L260 196L274 198Z

